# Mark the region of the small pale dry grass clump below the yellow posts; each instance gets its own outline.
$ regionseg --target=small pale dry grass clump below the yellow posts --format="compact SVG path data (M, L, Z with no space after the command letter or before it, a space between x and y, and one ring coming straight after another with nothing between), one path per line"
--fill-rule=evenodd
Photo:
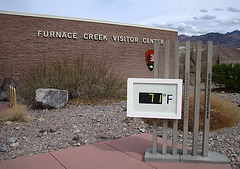
M16 105L10 108L7 115L1 116L1 121L32 122L34 118L27 115L27 107L25 105Z

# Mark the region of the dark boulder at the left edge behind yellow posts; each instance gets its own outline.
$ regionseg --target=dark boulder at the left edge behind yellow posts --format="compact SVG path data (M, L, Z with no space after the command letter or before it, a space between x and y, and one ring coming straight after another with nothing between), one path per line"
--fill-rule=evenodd
M9 86L16 88L17 85L18 83L11 77L5 78L0 88L0 101L9 101Z

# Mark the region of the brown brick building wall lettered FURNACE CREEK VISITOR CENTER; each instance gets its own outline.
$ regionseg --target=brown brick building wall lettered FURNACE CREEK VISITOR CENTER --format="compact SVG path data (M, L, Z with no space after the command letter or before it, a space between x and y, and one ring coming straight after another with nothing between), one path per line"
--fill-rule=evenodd
M44 63L98 61L123 79L152 78L145 53L160 43L159 72L164 72L164 42L170 41L170 78L178 32L89 19L0 11L0 82L20 80Z

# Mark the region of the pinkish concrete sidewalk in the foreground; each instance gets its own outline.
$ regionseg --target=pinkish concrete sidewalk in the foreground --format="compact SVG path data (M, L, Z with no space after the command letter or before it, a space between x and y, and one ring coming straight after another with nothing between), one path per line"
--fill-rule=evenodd
M158 146L161 146L158 138ZM168 142L171 145L171 142ZM231 169L229 164L144 162L151 134L140 134L87 146L0 161L0 169Z

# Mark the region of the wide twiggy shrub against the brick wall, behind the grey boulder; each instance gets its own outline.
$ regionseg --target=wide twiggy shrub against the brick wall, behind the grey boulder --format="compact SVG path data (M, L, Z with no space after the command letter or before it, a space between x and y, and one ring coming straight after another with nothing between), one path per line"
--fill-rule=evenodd
M34 100L38 88L68 90L69 98L123 97L125 82L110 72L101 62L78 61L74 64L58 62L32 68L20 83L20 92Z

